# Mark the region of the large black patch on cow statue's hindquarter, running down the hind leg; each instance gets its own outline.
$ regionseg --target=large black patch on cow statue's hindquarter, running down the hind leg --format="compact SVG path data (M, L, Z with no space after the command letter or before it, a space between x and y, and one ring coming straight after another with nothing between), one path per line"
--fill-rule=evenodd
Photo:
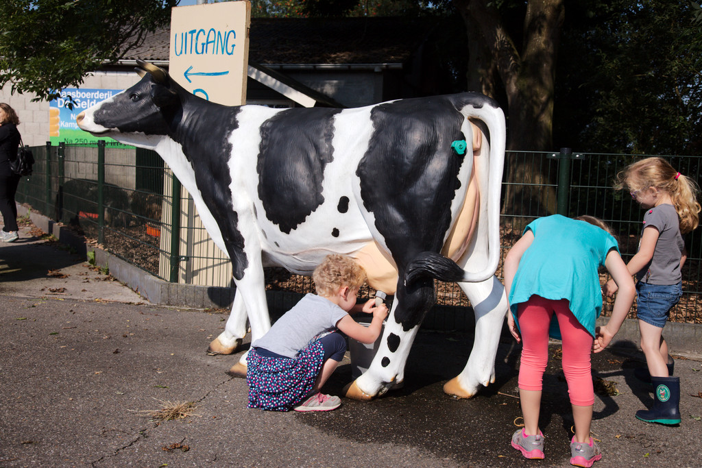
M451 143L465 138L459 109L475 105L472 98L465 93L399 100L371 111L373 135L356 174L364 208L373 213L399 268L397 295L403 307L395 319L404 330L421 323L433 303L433 283L405 285L404 274L421 253L439 255L451 226L451 201L461 187L458 173L465 161L472 163L457 157Z

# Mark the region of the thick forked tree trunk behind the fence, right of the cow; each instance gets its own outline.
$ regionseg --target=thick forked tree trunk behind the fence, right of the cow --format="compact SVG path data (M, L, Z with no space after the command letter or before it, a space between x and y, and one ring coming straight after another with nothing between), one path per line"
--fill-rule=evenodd
M453 0L465 21L469 40L468 83L495 97L499 77L507 95L510 151L552 150L555 69L564 0L529 0L521 53L488 0ZM550 161L541 155L512 154L505 161L507 181L503 214L542 216L555 213Z

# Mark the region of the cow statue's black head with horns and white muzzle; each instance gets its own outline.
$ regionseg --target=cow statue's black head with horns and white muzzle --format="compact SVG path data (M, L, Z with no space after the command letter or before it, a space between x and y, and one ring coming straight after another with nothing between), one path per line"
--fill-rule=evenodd
M168 135L182 113L183 88L164 69L141 60L137 65L141 81L81 112L76 118L81 129L120 141L120 134Z

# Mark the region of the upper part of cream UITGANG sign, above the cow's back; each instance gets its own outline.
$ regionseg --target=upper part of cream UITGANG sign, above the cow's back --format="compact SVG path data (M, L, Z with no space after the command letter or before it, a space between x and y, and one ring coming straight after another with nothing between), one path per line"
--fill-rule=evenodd
M250 22L247 0L172 8L168 74L206 100L245 104Z

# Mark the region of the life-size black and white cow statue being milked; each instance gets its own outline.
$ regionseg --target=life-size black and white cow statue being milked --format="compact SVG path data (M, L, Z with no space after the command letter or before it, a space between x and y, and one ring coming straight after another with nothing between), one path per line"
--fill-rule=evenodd
M138 65L141 81L81 112L78 125L158 152L231 259L234 305L212 352L234 352L247 315L251 340L269 330L263 267L310 275L326 255L343 253L371 287L395 294L380 349L347 396L373 399L402 382L435 302L434 279L458 282L476 320L468 363L444 391L468 398L494 382L507 301L494 276L505 119L493 100L463 93L357 109L229 107ZM232 372L245 366L246 355Z

